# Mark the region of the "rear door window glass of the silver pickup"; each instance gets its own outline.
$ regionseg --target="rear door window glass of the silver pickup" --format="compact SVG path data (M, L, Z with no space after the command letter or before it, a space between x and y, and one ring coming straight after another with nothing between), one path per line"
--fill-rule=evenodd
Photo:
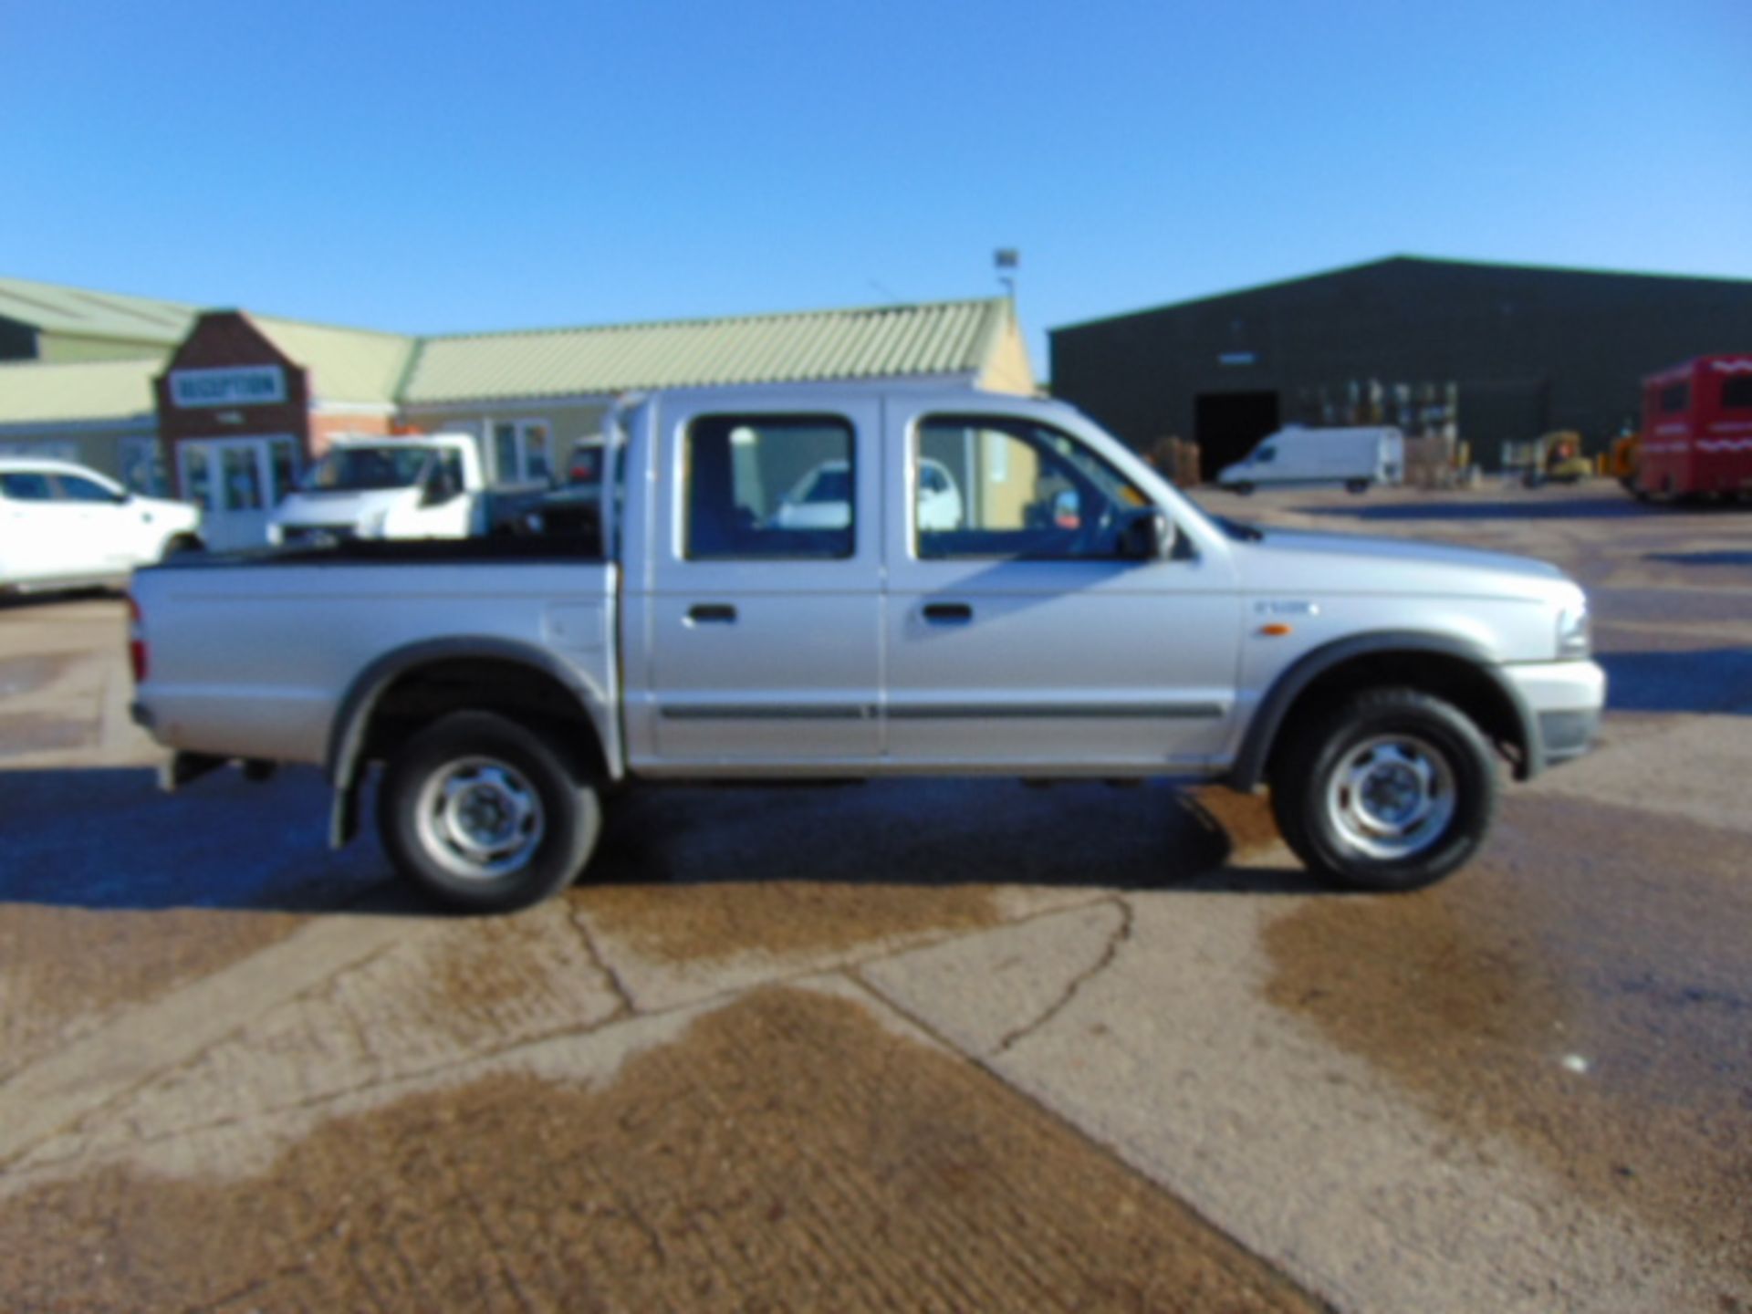
M851 422L839 415L701 415L687 429L689 561L850 557Z

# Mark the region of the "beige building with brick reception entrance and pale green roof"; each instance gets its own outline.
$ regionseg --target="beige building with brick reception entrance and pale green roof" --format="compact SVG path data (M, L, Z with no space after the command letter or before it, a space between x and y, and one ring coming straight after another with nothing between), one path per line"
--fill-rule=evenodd
M471 433L492 480L524 482L562 477L625 392L1035 391L1002 298L417 338L0 280L9 347L0 450L200 501L245 536L338 433Z

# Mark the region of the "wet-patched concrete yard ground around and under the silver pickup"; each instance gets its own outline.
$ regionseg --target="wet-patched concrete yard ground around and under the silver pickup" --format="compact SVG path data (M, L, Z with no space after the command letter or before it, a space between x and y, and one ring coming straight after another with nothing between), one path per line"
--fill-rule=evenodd
M433 916L314 773L163 797L0 608L5 1309L1752 1312L1752 513L1211 494L1589 585L1601 748L1416 895L1258 801L675 790Z

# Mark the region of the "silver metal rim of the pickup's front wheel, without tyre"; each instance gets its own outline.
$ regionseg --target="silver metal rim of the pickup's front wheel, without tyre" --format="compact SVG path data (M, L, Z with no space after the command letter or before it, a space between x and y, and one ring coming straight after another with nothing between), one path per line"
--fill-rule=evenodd
M1447 755L1416 734L1377 734L1346 750L1326 783L1339 839L1393 862L1431 848L1458 808Z

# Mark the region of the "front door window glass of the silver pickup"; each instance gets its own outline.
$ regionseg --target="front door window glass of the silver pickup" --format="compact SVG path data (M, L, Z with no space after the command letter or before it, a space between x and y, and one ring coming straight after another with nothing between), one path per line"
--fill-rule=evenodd
M1120 555L1137 487L1069 434L997 415L934 415L915 438L920 559Z

